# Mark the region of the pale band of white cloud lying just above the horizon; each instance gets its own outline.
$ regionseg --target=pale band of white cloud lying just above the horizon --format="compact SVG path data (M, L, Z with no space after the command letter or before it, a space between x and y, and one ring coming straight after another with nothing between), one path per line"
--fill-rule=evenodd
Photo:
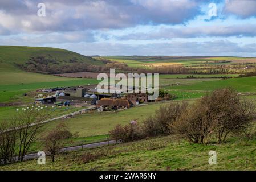
M205 42L170 42L151 44L78 43L59 45L84 55L180 55L180 56L256 56L256 44L227 40Z

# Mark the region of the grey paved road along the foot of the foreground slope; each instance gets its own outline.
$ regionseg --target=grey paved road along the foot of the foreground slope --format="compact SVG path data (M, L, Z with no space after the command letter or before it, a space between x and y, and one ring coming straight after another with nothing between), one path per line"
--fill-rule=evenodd
M91 144L84 144L82 146L74 146L74 147L66 147L62 148L60 152L70 152L70 151L76 151L76 150L81 150L83 148L95 148L95 147L100 147L100 146L106 146L108 144L116 144L119 142L116 142L116 140L110 140L109 142L99 142L99 143L91 143ZM29 159L36 159L39 156L37 153L34 154L28 154L25 156L24 160L29 160Z

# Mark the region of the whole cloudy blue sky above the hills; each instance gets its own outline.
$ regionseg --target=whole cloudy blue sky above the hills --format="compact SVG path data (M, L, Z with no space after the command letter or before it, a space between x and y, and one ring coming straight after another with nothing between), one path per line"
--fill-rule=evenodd
M256 57L256 0L1 0L0 45Z

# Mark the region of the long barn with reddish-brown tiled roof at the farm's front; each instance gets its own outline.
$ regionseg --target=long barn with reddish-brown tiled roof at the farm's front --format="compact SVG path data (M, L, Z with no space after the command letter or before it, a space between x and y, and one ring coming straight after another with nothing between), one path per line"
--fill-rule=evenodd
M133 106L132 102L127 99L112 99L112 98L102 98L98 104L102 109L112 107L112 109L125 109Z

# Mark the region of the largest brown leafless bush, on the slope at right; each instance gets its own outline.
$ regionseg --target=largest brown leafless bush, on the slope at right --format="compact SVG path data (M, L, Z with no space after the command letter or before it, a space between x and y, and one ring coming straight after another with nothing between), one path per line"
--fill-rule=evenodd
M205 138L216 136L218 143L223 143L230 133L244 133L254 118L253 102L241 100L233 89L225 88L190 106L172 128L190 142L205 143Z

